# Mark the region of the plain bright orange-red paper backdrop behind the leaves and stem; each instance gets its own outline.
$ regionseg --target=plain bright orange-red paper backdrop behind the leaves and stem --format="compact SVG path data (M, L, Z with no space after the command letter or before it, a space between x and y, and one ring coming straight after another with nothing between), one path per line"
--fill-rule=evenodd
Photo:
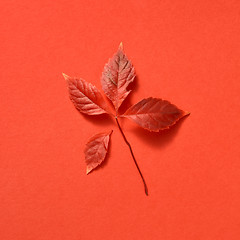
M0 239L240 239L239 1L1 1ZM137 73L123 106L162 97L169 131L79 114L62 72L98 88L123 41ZM113 129L85 175L90 136Z

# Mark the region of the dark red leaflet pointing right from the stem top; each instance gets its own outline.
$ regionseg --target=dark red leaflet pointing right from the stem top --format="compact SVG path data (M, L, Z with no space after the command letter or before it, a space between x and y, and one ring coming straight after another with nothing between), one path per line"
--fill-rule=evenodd
M150 97L131 106L122 116L142 128L157 132L169 128L187 114L166 100Z

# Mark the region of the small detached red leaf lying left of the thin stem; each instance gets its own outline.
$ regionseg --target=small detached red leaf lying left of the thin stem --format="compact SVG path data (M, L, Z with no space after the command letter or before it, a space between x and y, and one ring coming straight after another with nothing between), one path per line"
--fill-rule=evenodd
M106 158L111 132L99 133L90 138L85 148L87 174L99 166Z

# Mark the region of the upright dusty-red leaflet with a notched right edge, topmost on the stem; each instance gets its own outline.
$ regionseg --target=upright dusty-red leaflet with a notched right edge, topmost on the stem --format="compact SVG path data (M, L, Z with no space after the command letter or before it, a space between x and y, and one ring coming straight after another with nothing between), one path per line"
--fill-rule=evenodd
M127 87L134 78L134 67L123 52L121 43L117 53L105 65L101 78L102 89L112 101L116 112L131 92L131 90L127 90Z

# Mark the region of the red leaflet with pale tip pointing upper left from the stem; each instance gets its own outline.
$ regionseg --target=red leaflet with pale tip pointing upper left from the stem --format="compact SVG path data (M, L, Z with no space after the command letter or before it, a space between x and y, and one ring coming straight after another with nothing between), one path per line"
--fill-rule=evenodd
M102 94L91 83L81 78L71 78L63 73L67 80L69 96L76 109L88 115L110 114Z

